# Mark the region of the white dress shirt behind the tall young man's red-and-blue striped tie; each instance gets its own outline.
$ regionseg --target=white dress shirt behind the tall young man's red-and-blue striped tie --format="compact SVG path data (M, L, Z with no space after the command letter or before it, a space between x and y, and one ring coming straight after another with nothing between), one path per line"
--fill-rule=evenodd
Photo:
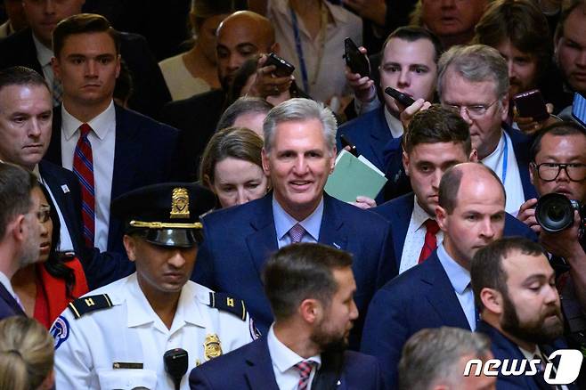
M61 161L63 167L73 170L73 154L79 139L79 126L83 123L74 118L65 105L61 106ZM105 251L108 248L110 224L110 200L116 148L116 110L114 102L100 115L87 122L92 127L87 139L92 144L94 158L95 235L94 245Z

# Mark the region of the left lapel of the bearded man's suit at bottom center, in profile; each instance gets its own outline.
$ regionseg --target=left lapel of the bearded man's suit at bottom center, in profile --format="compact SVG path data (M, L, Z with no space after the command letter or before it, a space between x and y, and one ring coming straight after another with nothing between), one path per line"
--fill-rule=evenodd
M250 345L246 362L248 369L244 371L244 375L250 389L279 390L277 379L274 378L273 363L269 347L266 344L266 337Z

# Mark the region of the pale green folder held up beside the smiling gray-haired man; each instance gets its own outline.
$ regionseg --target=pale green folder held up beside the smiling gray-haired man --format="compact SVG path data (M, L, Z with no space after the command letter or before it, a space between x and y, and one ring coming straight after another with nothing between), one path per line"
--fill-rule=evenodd
M325 191L334 198L354 202L359 195L375 199L385 183L385 175L368 159L362 156L356 158L342 150L336 158L336 167L328 178Z

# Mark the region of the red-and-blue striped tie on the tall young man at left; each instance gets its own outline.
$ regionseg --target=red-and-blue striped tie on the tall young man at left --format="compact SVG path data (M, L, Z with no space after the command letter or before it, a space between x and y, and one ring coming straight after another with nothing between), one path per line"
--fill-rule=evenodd
M84 223L85 245L94 248L94 157L92 156L92 144L87 139L87 134L90 131L92 131L92 127L86 123L79 126L79 140L77 140L73 155L73 173L77 175L77 179L81 183L81 216Z

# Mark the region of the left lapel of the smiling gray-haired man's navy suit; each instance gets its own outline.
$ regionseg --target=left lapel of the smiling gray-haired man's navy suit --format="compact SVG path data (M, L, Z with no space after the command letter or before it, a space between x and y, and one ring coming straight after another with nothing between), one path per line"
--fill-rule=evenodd
M269 192L258 202L256 218L250 222L255 232L248 235L246 244L256 272L260 275L267 256L276 251L279 246L277 245L277 233L274 228L273 192Z

